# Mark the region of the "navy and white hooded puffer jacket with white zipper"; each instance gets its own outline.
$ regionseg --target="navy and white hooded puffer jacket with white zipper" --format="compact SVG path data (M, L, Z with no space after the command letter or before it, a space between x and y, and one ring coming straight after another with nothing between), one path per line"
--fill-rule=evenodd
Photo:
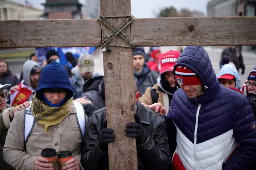
M182 89L173 95L167 118L177 129L174 169L247 169L256 157L256 122L248 99L219 84L202 47L187 47L174 73L180 65L196 73L204 92L194 99Z

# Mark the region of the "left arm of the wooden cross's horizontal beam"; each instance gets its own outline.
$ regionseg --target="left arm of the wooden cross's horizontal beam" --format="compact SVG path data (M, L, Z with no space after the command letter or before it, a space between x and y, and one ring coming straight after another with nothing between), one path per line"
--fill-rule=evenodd
M0 48L96 47L101 44L97 20L0 21Z

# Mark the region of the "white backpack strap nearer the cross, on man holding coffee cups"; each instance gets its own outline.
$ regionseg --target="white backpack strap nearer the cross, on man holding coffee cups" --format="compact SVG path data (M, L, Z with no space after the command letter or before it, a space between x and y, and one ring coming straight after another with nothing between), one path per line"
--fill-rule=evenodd
M76 107L77 124L80 129L82 139L84 139L85 128L86 128L86 126L85 126L85 124L86 124L85 110L84 110L84 107L81 105L81 103L79 103L77 101L73 101L73 102Z

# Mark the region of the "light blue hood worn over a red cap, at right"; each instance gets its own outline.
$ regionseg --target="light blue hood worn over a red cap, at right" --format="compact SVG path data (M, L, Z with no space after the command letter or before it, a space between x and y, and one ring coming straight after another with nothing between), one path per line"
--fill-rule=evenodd
M225 74L229 74L229 75L232 75L232 76L235 76L236 78L236 89L241 89L241 78L240 78L240 75L238 73L238 71L236 70L235 66L233 64L224 64L222 66L222 68L220 69L220 72L219 74L217 75L217 78L220 77L220 76L223 76Z

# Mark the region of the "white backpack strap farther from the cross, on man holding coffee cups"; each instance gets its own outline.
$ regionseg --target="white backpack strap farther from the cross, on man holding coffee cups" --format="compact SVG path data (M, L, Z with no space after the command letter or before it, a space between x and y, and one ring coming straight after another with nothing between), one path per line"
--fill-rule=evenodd
M36 123L36 120L34 119L34 116L31 112L31 103L28 108L24 111L24 145L26 145L28 136L33 130L34 124Z

